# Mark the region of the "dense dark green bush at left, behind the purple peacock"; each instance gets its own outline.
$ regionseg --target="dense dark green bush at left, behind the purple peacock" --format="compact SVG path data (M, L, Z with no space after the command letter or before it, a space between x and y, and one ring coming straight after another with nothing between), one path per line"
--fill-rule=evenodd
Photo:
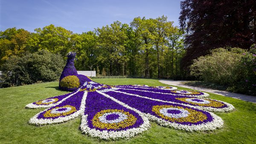
M22 57L12 56L1 66L0 86L20 86L58 80L64 64L61 55L44 50L34 54L26 53Z

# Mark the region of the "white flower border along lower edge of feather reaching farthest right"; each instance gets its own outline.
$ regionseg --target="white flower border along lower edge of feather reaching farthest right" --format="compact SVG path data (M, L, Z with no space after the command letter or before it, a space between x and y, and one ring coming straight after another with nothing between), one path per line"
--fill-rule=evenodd
M119 92L119 91L115 91L115 90L111 90L111 89L109 91ZM219 102L223 102L224 104L227 104L227 107L214 108L214 107L192 106L192 105L189 105L189 104L175 103L175 102L172 102L172 101L163 101L163 100L148 98L148 97L144 97L144 96L140 96L140 95L136 95L136 94L130 94L130 93L127 93L127 92L119 92L119 93L123 93L123 94L126 94L126 95L133 95L133 96L137 96L137 97L140 97L140 98L146 98L146 99L150 99L150 100L153 100L153 101L161 101L161 102L166 102L166 103L170 103L170 104L180 104L180 105L183 105L183 106L186 106L186 107L193 107L193 108L196 108L196 109L206 110L206 111L210 111L210 112L230 112L233 109L235 109L235 107L232 104L229 104L229 103L226 103L226 102L223 102L223 101L219 101ZM210 98L204 98L204 99L205 100L207 100L207 99L212 100ZM218 100L215 100L215 101L218 101Z

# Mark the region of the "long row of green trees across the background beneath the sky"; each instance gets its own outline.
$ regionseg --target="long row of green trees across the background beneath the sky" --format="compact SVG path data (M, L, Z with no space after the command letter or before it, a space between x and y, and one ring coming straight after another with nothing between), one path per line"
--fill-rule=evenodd
M185 51L183 32L165 16L136 17L129 25L116 21L82 34L54 25L35 32L16 28L0 32L1 66L12 55L40 50L60 54L64 60L68 52L76 52L77 70L143 78L177 77Z

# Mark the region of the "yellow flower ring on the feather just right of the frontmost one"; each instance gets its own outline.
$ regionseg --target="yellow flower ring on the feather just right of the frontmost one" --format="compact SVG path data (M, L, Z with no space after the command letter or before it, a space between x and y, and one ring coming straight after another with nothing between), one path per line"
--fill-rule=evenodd
M184 117L169 117L161 113L161 109L165 108L177 108L180 109L181 111L187 111L188 115ZM152 107L152 111L155 112L157 115L160 117L172 121L172 122L190 122L190 123L197 123L198 121L204 121L207 119L207 115L205 115L203 112L198 112L194 109L189 109L189 108L183 108L179 106L171 106L171 105L156 105Z

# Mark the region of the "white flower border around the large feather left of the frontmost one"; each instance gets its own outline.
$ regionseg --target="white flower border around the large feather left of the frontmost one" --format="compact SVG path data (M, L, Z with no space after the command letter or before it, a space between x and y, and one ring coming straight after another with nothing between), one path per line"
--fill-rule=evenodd
M85 107L85 100L86 100L86 97L87 97L87 92L84 91L84 95L83 95L83 98L81 100L81 106L80 106L80 109L71 114L71 115L68 115L68 116L65 116L65 117L59 117L59 118L55 118L55 119L52 119L52 118L49 118L49 119L38 119L38 115L40 115L42 112L45 112L49 109L45 109L44 111L42 112L39 112L38 114L36 114L34 117L32 117L30 120L29 120L29 124L35 124L37 126L41 126L41 125L45 125L45 124L58 124L58 123L63 123L63 122L66 122L66 121L70 121L74 118L77 118L79 115L81 115L81 113L84 112L84 107Z

